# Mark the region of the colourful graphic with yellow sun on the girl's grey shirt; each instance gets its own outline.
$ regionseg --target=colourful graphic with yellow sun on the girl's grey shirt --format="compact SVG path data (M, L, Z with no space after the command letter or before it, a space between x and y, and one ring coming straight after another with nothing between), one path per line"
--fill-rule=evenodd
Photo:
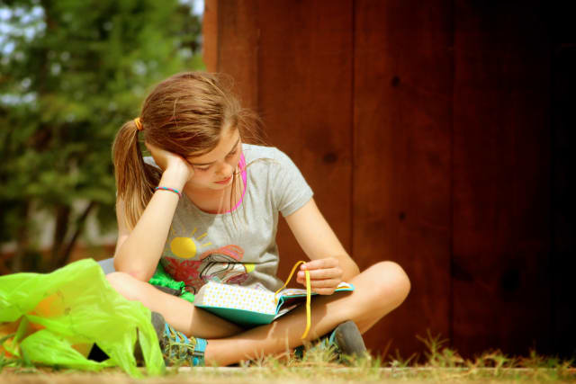
M179 257L163 257L162 264L166 272L176 281L184 281L186 290L196 293L208 281L218 281L227 284L242 284L247 281L248 273L254 271L254 263L242 263L244 250L240 246L229 245L213 248L197 256L198 249L210 246L211 242L202 244L202 238L193 237L197 228L193 229L191 237L175 237L170 241L170 250ZM175 236L174 228L171 228ZM184 259L184 260L182 260Z

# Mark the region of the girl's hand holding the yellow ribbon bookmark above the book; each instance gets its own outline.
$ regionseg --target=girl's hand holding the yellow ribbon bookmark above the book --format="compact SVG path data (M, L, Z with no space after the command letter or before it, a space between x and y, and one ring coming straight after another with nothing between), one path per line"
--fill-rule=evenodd
M296 275L296 281L306 286L304 271L310 271L311 290L320 295L331 295L342 282L342 268L338 259L327 257L303 263Z

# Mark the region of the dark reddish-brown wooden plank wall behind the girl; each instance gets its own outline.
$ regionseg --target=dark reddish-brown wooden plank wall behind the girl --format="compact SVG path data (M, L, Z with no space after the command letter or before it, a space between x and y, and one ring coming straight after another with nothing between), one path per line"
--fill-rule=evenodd
M429 331L465 356L575 353L556 268L574 265L561 14L536 1L207 0L208 69L234 76L360 267L392 260L410 275L409 299L365 337L374 351L421 353ZM284 223L279 243L285 276L303 255Z

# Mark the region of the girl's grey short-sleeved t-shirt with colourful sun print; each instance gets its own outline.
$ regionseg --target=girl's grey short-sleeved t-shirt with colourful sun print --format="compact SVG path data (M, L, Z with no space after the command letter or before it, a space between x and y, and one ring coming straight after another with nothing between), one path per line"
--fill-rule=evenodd
M211 280L268 290L283 285L276 277L278 212L292 214L311 200L312 191L279 149L243 144L242 151L246 189L236 210L207 213L184 194L176 207L160 263L193 293ZM145 161L153 164L151 157Z

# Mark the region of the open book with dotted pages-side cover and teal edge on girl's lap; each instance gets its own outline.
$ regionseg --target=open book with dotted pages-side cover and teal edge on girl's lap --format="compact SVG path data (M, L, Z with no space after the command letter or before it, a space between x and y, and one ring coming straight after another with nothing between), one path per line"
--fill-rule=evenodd
M354 285L340 282L336 292L354 290ZM317 295L311 292L311 296ZM285 288L273 292L264 287L208 281L196 293L194 306L223 317L240 326L260 326L272 323L307 299L307 290Z

